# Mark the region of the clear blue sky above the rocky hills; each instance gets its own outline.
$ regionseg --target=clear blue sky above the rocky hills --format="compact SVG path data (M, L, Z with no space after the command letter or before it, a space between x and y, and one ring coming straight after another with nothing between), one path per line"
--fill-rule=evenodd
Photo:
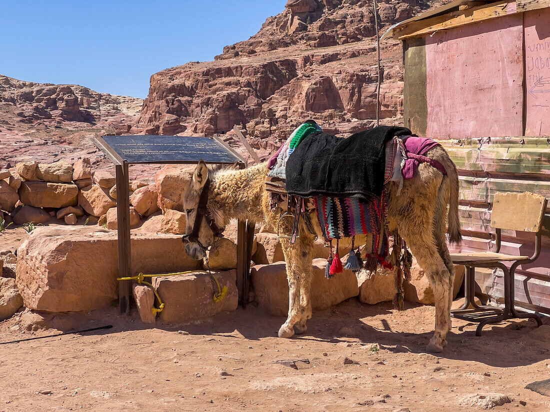
M213 60L286 0L2 0L0 74L145 98L149 77Z

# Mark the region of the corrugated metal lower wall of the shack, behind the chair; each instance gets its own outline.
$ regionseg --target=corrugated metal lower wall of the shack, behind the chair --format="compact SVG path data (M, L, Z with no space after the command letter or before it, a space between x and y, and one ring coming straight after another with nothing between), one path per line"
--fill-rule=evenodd
M464 241L453 252L494 250L491 208L496 192L540 193L550 201L550 137L503 137L441 142L459 169L460 221ZM503 231L503 253L531 255L530 233ZM543 220L538 260L516 271L516 301L550 313L550 208ZM476 270L481 291L502 300L502 275Z

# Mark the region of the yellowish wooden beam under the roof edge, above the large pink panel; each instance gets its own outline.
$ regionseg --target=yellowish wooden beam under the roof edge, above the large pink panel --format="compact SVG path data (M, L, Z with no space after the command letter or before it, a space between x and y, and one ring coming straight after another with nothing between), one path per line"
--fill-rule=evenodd
M409 24L395 27L393 37L398 38L399 40L404 40L406 38L430 34L438 30L464 26L466 24L477 23L478 21L494 19L496 17L501 17L514 13L516 13L515 3L502 1L490 3L482 5L480 7L458 10L456 12L432 17L430 19L412 21Z

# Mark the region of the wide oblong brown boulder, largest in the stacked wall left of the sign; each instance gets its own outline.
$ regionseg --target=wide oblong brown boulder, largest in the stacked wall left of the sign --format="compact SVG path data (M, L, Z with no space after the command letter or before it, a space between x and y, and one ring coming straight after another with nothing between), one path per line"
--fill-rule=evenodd
M78 187L71 183L26 181L19 188L21 203L37 208L64 208L78 204Z

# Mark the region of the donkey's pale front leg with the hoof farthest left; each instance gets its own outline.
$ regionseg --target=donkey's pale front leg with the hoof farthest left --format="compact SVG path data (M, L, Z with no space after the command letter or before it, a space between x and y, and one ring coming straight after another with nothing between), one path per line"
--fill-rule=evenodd
M290 244L288 239L281 240L283 247L284 258L287 262L287 279L289 286L288 294L288 318L279 329L279 337L289 338L294 335L294 325L301 318L301 303L300 303L300 259L298 258L299 250L301 249L301 241L296 241L295 244ZM297 253L298 252L298 253Z

